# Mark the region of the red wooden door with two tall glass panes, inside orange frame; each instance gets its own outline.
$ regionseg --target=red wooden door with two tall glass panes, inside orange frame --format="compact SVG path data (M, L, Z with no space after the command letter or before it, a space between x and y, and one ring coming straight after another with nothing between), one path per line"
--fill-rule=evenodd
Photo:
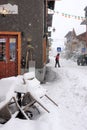
M18 74L17 42L17 36L0 36L0 78Z

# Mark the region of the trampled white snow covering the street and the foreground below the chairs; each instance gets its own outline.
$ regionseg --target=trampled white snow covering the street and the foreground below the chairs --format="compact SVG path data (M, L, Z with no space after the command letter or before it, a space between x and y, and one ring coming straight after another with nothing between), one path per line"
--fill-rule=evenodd
M87 130L87 66L77 66L75 62L62 57L60 68L55 68L54 64L51 55L50 63L47 64L47 68L50 68L47 72L50 82L40 86L47 90L47 95L58 107L43 97L42 104L50 113L39 107L41 115L37 119L27 121L12 118L1 125L0 130L18 130L19 127L21 130Z

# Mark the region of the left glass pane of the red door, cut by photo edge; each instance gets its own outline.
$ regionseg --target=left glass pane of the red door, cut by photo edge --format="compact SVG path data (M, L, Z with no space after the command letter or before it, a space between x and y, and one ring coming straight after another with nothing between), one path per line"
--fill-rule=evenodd
M6 61L6 39L0 38L0 61Z

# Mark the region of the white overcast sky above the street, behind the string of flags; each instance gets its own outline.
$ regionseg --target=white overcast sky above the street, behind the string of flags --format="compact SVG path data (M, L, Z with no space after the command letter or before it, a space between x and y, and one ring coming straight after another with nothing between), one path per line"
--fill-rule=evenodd
M86 31L86 26L81 25L81 17L85 17L84 8L86 6L87 0L56 0L52 25L52 28L56 29L55 32L52 32L54 46L58 46L57 44L62 46L64 36L69 31L72 31L73 28L77 35ZM65 14L67 17L65 17ZM70 16L70 18L68 16ZM78 19L78 16L80 16L80 20Z

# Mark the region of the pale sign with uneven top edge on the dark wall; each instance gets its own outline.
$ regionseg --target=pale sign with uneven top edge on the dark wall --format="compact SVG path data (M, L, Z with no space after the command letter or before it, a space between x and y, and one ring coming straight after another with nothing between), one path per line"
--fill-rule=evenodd
M18 14L18 5L10 3L0 5L0 14Z

